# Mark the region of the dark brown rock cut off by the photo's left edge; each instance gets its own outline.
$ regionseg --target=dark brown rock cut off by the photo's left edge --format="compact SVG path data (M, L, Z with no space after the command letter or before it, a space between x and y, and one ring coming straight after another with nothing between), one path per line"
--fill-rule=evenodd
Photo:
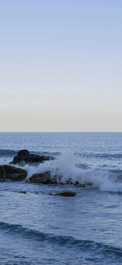
M0 180L21 181L27 177L27 171L9 165L0 165ZM3 180L2 180L3 181Z

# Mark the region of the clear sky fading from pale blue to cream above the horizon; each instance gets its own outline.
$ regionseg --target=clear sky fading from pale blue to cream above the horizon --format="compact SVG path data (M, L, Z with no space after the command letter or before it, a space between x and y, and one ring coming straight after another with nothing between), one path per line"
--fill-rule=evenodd
M122 131L122 1L0 0L0 131Z

